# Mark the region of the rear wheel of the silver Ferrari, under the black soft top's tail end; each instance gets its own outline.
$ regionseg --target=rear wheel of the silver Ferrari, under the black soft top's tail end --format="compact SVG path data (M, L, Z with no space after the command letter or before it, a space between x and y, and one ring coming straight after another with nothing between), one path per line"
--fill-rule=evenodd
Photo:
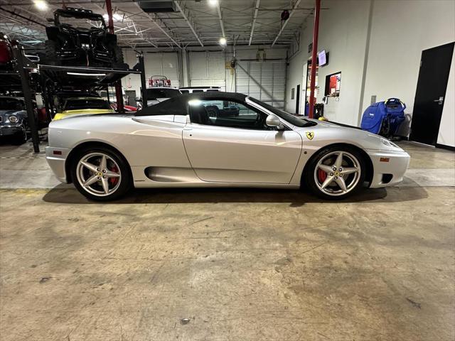
M105 156L104 169L102 156ZM90 165L90 169L82 165L81 161L85 162L85 165ZM92 166L96 168L92 169ZM75 188L90 200L117 200L132 188L131 168L125 158L112 148L102 146L83 148L73 158L70 173Z

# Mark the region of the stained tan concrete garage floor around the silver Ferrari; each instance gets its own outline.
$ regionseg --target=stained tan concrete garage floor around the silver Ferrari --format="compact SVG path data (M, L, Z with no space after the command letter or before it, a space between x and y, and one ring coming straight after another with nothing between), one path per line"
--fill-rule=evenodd
M0 146L1 340L454 340L455 153L405 182L87 202ZM48 189L46 189L48 187Z

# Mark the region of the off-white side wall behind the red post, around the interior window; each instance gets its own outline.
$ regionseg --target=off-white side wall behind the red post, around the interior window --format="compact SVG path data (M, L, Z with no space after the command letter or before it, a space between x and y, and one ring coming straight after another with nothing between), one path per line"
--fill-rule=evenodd
M328 65L319 67L317 102L322 101L326 75L341 71L340 97L337 100L335 97L328 99L328 104L324 108L324 116L331 121L356 125L370 1L323 1L322 7L328 7L328 9L321 11L318 50L328 51L329 60ZM296 87L297 84L301 84L302 90L305 87L306 62L311 58L311 53L308 53L308 45L312 41L312 21L312 17L306 21L306 28L301 33L301 52L291 60L289 65L289 81L293 81L287 92L287 109L290 112L295 112L295 99L291 99L289 88ZM302 113L304 99L301 100L301 103L300 112Z

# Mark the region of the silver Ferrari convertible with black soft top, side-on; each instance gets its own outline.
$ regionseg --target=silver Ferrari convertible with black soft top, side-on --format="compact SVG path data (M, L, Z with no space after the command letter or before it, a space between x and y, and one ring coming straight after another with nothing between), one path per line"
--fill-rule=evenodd
M53 121L46 158L92 200L131 188L308 188L341 199L402 181L410 156L359 129L301 119L245 94L183 94L132 115Z

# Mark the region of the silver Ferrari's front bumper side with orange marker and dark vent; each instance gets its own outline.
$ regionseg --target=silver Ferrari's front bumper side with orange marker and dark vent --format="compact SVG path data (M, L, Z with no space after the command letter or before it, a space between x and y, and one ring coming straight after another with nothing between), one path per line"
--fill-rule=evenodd
M373 180L370 188L382 188L401 183L410 164L405 151L366 151L373 162Z

